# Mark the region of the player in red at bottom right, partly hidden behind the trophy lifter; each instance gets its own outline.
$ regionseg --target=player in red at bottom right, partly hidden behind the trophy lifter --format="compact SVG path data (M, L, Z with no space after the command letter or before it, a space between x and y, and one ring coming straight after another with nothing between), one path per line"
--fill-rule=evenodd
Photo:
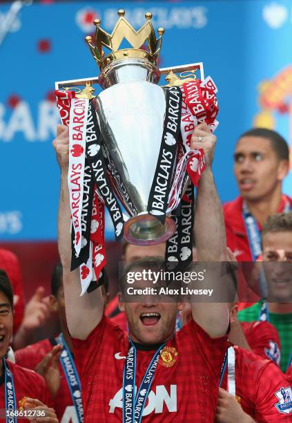
M250 341L254 342L260 356L253 353L246 346L246 339L236 314L237 307L230 306L231 330L228 340L233 345L228 348L221 374L221 388L219 391L218 406L216 411L217 423L250 423L250 422L289 422L292 415L292 402L284 402L284 395L289 395L291 384L286 381L285 375L272 359L268 359L264 353L265 339L273 336L269 330L269 323L259 323L263 335L257 339L260 330L253 330ZM190 319L191 306L186 304L182 310L183 327ZM268 338L267 338L268 336ZM260 343L262 342L262 346ZM252 343L251 343L252 345ZM286 404L284 412L280 407Z

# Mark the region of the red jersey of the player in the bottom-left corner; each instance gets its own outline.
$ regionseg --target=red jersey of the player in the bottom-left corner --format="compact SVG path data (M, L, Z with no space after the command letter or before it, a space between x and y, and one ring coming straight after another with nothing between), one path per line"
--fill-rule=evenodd
M37 375L37 373L32 370L18 366L9 360L6 360L6 363L8 364L8 368L10 369L13 377L17 408L19 408L19 401L22 400L23 397L36 398L37 400L43 402L46 406L52 406L52 400L50 398L46 382L40 375ZM4 370L0 378L0 385L0 408L5 410ZM28 422L28 420L21 418L17 419L17 422L19 421Z

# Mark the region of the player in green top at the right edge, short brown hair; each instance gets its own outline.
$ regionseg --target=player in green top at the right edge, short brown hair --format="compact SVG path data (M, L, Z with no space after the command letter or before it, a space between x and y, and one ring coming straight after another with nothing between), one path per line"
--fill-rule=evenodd
M240 321L270 321L281 342L283 372L292 363L292 213L270 216L262 227L266 297L238 313ZM261 264L258 263L260 270Z

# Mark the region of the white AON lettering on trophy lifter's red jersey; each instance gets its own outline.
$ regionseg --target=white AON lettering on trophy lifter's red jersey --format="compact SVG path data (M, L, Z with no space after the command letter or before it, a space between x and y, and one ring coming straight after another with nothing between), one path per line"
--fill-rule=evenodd
M137 391L137 386L136 386ZM175 413L177 411L177 386L171 385L170 393L166 390L164 385L156 386L156 393L150 391L148 395L148 402L146 400L146 406L143 411L143 416L152 413L162 413L164 404L168 409L169 413ZM110 413L115 413L115 408L122 408L123 406L123 389L121 388L108 403L110 406Z

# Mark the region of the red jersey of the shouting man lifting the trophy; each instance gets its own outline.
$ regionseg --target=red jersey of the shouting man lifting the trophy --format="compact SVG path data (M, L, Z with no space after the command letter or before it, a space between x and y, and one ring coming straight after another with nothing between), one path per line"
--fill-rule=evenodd
M128 333L104 316L86 340L72 342L84 420L121 423ZM176 332L166 344L171 360L157 364L142 422L213 422L226 346L226 337L211 339L193 319ZM137 387L154 353L137 349Z

